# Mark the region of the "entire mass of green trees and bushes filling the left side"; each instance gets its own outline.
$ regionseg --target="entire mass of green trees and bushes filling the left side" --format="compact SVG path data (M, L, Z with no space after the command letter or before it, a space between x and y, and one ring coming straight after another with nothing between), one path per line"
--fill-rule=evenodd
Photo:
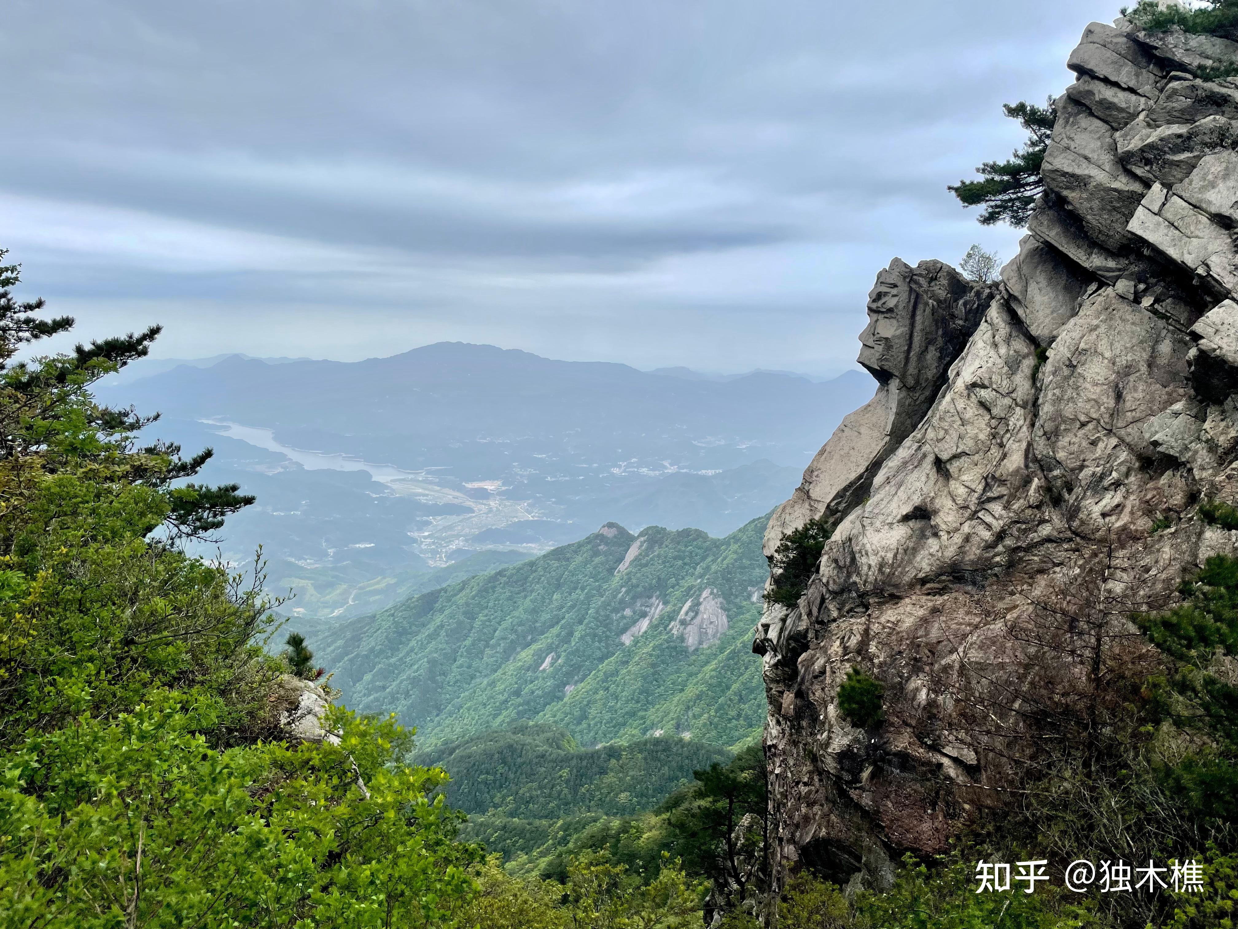
M479 852L443 772L343 710L276 741L260 559L182 546L253 498L187 483L209 450L141 446L152 417L90 395L158 328L14 363L73 325L17 282L0 268L0 923L453 925Z

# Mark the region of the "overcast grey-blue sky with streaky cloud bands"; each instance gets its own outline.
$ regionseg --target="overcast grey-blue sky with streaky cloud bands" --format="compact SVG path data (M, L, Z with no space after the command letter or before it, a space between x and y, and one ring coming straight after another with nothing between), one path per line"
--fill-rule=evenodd
M852 367L1092 0L7 0L0 248L77 338ZM57 346L58 347L58 346Z

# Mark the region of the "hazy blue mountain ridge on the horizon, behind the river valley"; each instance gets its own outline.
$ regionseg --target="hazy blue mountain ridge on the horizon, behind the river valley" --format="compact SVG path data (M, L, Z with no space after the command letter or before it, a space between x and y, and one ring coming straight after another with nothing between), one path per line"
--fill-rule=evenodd
M828 420L839 389L857 394L858 401L872 393L858 372L825 384L766 373L695 382L623 364L437 343L348 363L266 364L234 357L209 368L182 365L109 393L170 417L261 425L300 448L400 468L441 467L433 458L438 443L470 442L480 447L454 464L457 477L469 481L495 477L493 469L510 466L511 453L524 452L535 437L558 440L556 451L565 461L605 450L619 463L656 445L660 452L686 456L683 466L696 469L761 457L796 464L813 451L815 430L805 422L805 410ZM843 405L851 410L858 403ZM485 447L494 445L513 447Z

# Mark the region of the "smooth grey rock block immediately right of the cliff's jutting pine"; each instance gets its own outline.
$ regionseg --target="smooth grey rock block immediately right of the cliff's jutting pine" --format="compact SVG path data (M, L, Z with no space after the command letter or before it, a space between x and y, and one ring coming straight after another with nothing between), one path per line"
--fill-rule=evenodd
M1088 234L1110 251L1128 242L1127 223L1148 185L1118 160L1109 125L1068 97L1058 100L1054 139L1040 173L1045 186L1066 201Z

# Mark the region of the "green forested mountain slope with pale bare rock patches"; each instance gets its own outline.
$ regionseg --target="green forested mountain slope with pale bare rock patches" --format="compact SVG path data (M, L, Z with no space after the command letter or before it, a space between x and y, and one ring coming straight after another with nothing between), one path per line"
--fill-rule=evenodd
M519 720L583 744L664 733L735 744L764 717L750 643L765 523L724 539L608 523L310 644L344 702L399 713L423 746Z

